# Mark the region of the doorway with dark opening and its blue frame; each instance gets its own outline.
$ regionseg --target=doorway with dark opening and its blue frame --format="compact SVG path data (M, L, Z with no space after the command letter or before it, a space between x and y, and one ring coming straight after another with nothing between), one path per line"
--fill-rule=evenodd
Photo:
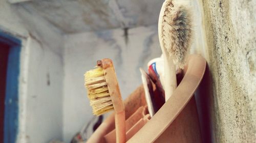
M0 31L0 142L16 142L21 42Z

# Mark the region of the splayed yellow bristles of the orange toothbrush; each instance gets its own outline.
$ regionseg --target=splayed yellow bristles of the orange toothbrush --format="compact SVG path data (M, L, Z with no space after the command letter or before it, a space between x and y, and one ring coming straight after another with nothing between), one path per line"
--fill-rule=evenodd
M101 67L97 66L95 69L87 71L84 74L84 82L94 115L99 116L113 110L109 89Z

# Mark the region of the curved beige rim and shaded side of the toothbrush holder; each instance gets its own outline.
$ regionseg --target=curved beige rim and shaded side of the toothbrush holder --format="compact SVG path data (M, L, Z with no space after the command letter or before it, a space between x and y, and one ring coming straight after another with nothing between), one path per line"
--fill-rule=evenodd
M187 66L184 69L185 75L173 95L165 102L154 117L127 142L136 142L138 140L140 140L140 142L174 141L176 138L180 138L179 142L201 142L196 102L193 95L203 78L205 67L206 62L201 55L190 55ZM190 100L191 98L192 100ZM185 108L186 105L189 105L190 108L187 108L188 106ZM187 137L182 136L182 134L172 136L172 134L170 134L172 131L175 133L181 131L179 128L184 127L181 124L180 127L176 126L177 129L169 128L179 114L183 112L183 109L193 111L193 113L190 112L190 114L187 114L191 117L187 116L186 119L182 119L193 125L188 125L187 133L189 134L185 133Z

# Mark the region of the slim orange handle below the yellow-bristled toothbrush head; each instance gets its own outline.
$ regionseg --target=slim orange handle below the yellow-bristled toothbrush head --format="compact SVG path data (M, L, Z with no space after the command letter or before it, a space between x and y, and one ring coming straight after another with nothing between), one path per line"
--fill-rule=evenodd
M125 112L124 111L115 113L115 126L116 126L116 142L124 143L126 141Z

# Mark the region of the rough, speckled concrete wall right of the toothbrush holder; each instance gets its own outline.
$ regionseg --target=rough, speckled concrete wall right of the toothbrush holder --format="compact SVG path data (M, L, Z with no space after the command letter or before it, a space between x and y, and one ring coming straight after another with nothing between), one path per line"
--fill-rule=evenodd
M256 142L256 2L202 1L212 142Z

